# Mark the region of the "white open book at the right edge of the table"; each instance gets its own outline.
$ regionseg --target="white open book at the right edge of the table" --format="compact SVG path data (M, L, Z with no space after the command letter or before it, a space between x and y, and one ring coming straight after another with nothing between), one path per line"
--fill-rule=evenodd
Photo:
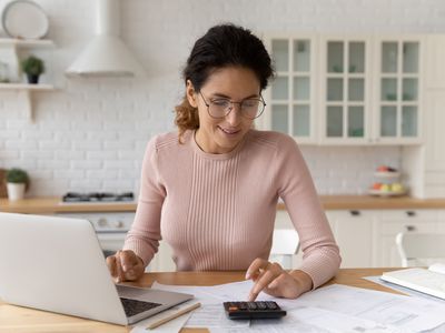
M445 300L445 264L385 272L380 279Z

